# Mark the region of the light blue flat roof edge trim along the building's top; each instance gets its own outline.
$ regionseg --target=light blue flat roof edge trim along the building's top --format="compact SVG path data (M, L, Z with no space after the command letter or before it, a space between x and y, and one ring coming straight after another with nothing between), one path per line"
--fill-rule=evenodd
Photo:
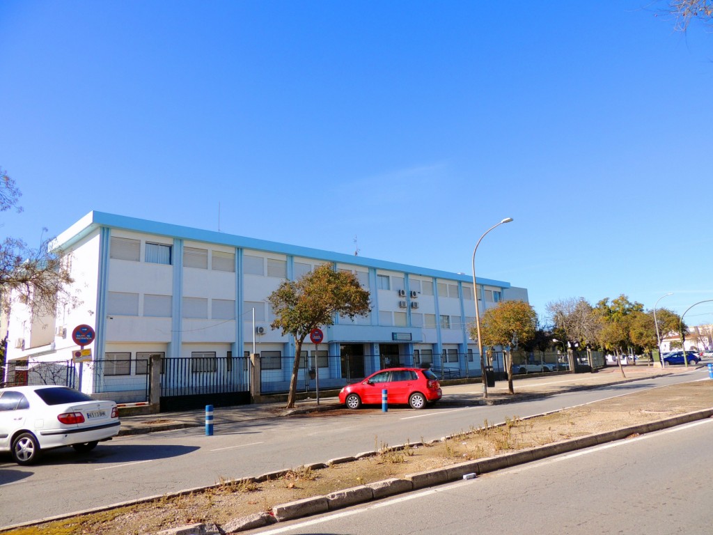
M346 253L333 253L332 251L300 247L298 245L288 245L286 243L272 242L267 240L257 240L246 238L245 236L219 233L213 230L200 230L198 228L184 227L182 225L172 225L170 223L158 223L156 221L129 218L123 215L115 215L104 212L91 212L80 221L72 225L71 228L58 236L57 245L61 248L71 248L83 236L91 233L97 227L106 226L109 228L119 228L133 232L148 233L153 235L168 236L181 240L195 240L204 243L215 243L217 245L232 245L236 248L266 251L270 253L281 253L302 258L312 258L315 260L327 260L335 263L348 265L358 265L362 267L374 267L381 270L391 270L397 272L411 273L426 277L436 277L448 280L460 280L461 282L472 281L472 277L463 273L453 273L441 270L434 270L428 267L418 267L414 265L388 262L386 260L376 260L361 256L348 255ZM481 279L478 282L489 286L509 288L510 282L501 280Z

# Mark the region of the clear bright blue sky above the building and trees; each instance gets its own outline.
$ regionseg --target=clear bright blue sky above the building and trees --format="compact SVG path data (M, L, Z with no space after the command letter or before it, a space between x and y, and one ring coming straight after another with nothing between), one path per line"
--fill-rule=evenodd
M546 303L713 300L713 34L651 0L0 2L0 166L90 210L471 272ZM713 322L713 303L686 315Z

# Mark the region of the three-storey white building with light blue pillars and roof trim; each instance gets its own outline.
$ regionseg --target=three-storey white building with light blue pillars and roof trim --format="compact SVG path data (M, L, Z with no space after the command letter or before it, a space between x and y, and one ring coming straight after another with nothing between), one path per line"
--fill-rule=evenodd
M81 389L106 392L120 376L144 376L146 360L159 355L190 359L191 373L217 373L211 359L259 354L262 382L284 385L294 340L272 330L267 296L285 279L322 263L356 274L371 293L371 313L335 318L319 345L319 378L356 380L383 365L448 368L480 375L480 357L468 325L501 300L527 301L527 290L501 280L443 272L326 250L91 212L57 238L68 253L78 305L56 317L31 317L18 304L9 318L8 361L72 360L78 325L96 332L93 360L103 371L85 373ZM317 348L305 341L303 351ZM332 357L339 357L333 360ZM198 363L198 364L196 364ZM344 370L349 367L349 370ZM336 381L336 383L339 383ZM279 390L280 387L275 387ZM114 394L114 397L120 397Z

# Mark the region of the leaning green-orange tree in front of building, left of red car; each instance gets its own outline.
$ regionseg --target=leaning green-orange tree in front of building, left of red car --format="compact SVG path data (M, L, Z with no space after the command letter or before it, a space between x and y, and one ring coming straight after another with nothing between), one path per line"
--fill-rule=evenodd
M335 315L365 316L371 310L369 292L352 272L334 271L322 264L299 280L286 280L267 297L275 314L270 327L294 337L294 363L289 381L287 409L294 407L302 343L313 329L333 325Z

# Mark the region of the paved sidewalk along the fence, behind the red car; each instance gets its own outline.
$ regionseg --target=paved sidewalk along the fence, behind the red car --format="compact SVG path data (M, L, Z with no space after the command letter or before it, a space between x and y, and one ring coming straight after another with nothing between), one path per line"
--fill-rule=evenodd
M698 367L704 366L703 364ZM692 370L695 367L689 367ZM607 367L596 373L579 374L538 374L538 377L516 376L513 381L515 394L508 394L506 381L496 382L495 387L488 388L488 399L483 399L483 385L480 382L469 384L451 384L443 386L443 398L438 406L473 406L485 404L502 404L523 401L534 397L545 397L560 392L571 392L580 389L603 387L610 384L620 384L652 377L662 377L675 373L686 372L683 366L661 368L645 365L625 366L622 374L618 367ZM344 409L337 397L321 398L319 407L316 399L304 399L295 403L295 408L284 409L284 403L260 403L236 405L235 407L217 407L213 412L213 424L239 423L255 419L286 417L292 414L304 414L325 410ZM346 410L346 409L345 409ZM160 414L144 414L140 416L121 417L119 435L145 434L170 429L205 426L205 410L186 412L162 412Z

